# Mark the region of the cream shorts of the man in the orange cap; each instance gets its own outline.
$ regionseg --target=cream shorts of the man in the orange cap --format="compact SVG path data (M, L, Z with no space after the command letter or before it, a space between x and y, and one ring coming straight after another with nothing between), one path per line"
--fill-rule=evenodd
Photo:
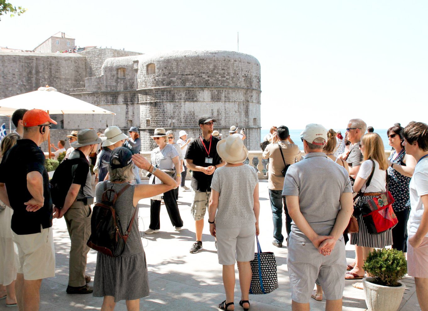
M35 234L15 234L13 241L18 247L18 273L25 280L39 280L55 276L55 249L52 227Z

